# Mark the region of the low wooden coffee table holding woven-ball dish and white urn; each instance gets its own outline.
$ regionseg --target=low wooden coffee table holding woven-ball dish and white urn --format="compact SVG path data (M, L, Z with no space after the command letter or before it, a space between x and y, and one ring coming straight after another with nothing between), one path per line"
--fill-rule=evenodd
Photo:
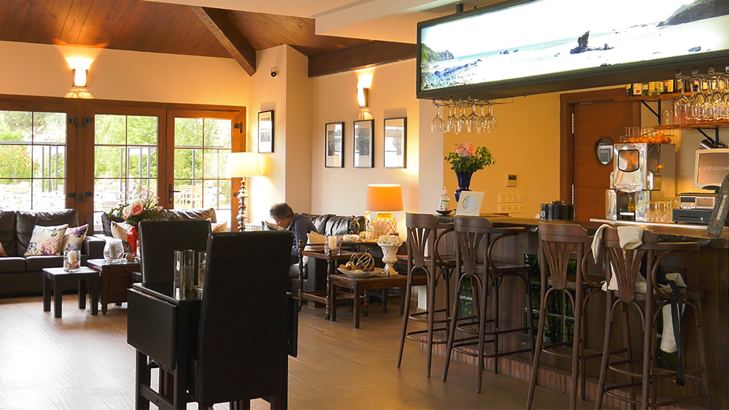
M337 288L350 289L354 293L354 328L359 328L359 297L362 291L369 289L389 289L401 288L400 297L405 294L402 290L408 285L408 275L375 275L371 277L351 277L348 275L338 274L330 275L331 283L331 317L332 322L337 320ZM413 276L413 286L427 285L428 277L426 275ZM365 307L367 305L367 296L364 297ZM407 315L408 312L405 312Z

